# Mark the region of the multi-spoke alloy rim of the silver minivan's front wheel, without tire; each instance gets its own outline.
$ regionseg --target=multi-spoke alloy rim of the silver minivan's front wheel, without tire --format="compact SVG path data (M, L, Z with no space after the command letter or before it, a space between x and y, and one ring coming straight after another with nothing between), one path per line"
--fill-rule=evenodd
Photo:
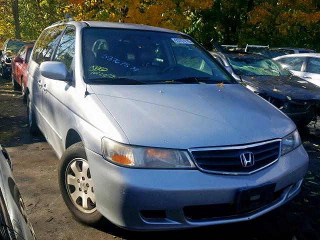
M85 159L75 158L70 161L65 171L65 185L76 208L85 213L96 210L90 169Z

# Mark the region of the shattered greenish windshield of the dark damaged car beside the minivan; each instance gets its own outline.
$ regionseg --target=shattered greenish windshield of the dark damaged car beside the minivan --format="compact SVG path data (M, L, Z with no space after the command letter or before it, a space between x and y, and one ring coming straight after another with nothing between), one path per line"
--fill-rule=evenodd
M290 76L291 73L279 63L263 57L232 56L227 57L237 75Z

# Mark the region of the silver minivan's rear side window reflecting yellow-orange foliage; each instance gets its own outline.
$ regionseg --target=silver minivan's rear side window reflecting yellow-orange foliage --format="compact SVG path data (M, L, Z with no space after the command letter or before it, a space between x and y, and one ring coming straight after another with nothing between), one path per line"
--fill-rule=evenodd
M65 25L53 26L45 30L34 46L32 60L37 63L49 61Z

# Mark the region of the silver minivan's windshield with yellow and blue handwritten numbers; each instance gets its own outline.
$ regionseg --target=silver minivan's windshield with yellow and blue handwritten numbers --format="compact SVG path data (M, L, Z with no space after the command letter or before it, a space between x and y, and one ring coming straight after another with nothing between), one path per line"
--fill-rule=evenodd
M178 33L90 27L83 42L85 78L93 84L235 83Z

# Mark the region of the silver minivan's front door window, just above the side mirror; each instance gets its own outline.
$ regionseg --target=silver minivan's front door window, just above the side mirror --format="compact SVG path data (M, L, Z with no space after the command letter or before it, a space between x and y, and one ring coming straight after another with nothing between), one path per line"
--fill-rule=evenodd
M74 57L75 29L67 27L56 49L54 61L61 61L66 68L71 69L71 63Z

